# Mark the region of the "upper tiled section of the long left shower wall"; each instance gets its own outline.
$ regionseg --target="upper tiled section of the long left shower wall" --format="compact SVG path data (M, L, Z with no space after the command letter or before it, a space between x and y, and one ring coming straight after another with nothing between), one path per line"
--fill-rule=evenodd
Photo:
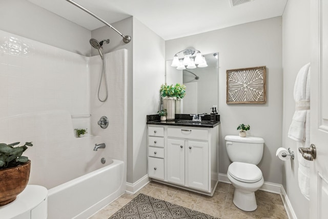
M88 59L0 30L0 118L53 109L90 114Z

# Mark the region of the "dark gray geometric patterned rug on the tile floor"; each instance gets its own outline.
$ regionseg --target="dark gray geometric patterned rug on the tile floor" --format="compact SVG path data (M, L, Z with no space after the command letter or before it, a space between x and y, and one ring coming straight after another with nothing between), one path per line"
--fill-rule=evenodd
M172 203L159 200L157 198L139 194L126 206L122 207L109 219L124 218L124 219L216 219L208 214L199 211L191 210L189 208L174 205Z

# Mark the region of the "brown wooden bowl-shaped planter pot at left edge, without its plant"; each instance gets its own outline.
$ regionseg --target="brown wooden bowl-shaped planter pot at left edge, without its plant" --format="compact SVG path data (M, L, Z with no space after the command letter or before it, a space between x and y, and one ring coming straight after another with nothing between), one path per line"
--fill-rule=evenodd
M31 161L0 170L0 206L7 205L23 192L29 182Z

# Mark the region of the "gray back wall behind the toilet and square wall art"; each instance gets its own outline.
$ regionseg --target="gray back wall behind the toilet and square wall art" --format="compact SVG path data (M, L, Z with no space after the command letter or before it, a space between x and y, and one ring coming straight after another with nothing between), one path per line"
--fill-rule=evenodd
M281 184L282 162L275 156L281 147L282 128L281 31L281 17L275 17L166 41L166 59L188 47L203 54L219 52L220 173L227 173L230 164L224 136L238 135L239 124L250 124L248 135L263 137L265 141L258 165L264 181ZM267 103L226 104L226 70L255 66L267 66Z

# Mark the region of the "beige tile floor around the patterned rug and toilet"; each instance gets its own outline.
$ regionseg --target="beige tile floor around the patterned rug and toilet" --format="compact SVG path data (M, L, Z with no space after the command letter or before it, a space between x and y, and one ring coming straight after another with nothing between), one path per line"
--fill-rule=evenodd
M201 195L183 189L150 182L134 195L123 194L114 202L98 211L90 219L107 219L128 204L139 193L144 193L161 200L171 202L183 207L194 209L213 215L221 219L239 218L275 218L288 219L279 194L264 191L256 191L257 209L245 212L238 209L232 202L234 187L231 184L219 183L213 197Z

